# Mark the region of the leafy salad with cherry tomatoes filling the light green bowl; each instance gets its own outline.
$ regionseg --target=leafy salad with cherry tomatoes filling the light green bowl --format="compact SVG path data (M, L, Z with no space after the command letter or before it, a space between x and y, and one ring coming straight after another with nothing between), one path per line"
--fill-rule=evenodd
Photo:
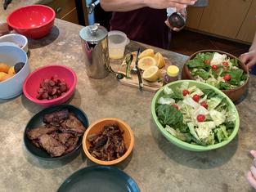
M233 132L236 113L213 89L200 89L182 83L164 87L155 112L165 130L181 141L195 145L214 145Z

